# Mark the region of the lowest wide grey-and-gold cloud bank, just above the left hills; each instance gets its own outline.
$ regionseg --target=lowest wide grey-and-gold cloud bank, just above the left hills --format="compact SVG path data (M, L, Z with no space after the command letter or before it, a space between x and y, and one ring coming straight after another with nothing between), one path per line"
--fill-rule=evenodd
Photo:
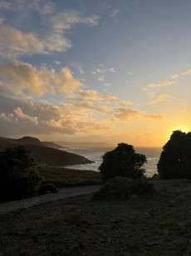
M110 131L105 121L94 118L95 113L106 114L111 111L99 103L66 102L61 106L54 106L0 96L0 109L2 136Z

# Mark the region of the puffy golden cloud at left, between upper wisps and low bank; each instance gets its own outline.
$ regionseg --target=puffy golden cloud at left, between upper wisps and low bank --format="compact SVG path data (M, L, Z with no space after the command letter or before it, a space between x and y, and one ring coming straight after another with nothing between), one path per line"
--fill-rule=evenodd
M42 66L37 69L29 63L9 62L0 63L0 77L7 80L12 93L21 93L27 89L32 95L42 97L46 93L73 93L82 83L72 77L69 68L55 69Z

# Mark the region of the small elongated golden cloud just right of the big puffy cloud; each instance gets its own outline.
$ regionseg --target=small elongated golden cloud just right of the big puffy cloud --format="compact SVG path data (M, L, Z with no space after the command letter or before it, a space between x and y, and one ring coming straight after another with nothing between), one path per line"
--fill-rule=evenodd
M79 96L86 100L102 101L102 100L118 100L119 98L115 97L112 94L101 94L97 93L96 90L79 90Z

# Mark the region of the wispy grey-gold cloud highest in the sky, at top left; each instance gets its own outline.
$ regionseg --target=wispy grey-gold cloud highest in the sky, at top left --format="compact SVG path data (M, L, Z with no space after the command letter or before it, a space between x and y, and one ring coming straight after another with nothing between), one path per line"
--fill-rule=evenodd
M20 8L23 8L23 6L27 6L27 8L30 9L30 5L26 2L23 3ZM35 9L33 6L32 8ZM37 8L35 11L37 11ZM50 17L51 3L43 5L43 8L39 8L38 12L43 12L43 14L47 14L47 16L45 15L46 23L42 18L42 24L39 24L38 26L39 29L35 28L36 33L32 32L33 28L29 29L30 26L28 26L28 30L30 30L28 32L22 32L17 28L13 28L12 26L14 26L14 24L12 24L12 26L6 25L0 27L1 58L12 59L22 55L65 52L72 46L70 40L66 38L67 30L71 29L72 26L81 23L90 26L98 25L99 19L96 15L82 17L81 13L73 10L64 10L62 13ZM19 13L17 13L17 18L15 19L19 19ZM19 23L22 23L22 20L20 20ZM41 25L43 25L42 31Z

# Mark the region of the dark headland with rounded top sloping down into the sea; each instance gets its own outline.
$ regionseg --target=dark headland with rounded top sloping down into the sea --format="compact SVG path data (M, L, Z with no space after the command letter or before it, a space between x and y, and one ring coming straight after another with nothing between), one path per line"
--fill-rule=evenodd
M23 137L19 139L0 137L0 150L24 145L32 152L32 157L38 165L66 166L68 164L92 163L91 160L76 153L68 153L56 148L47 147L37 138Z

